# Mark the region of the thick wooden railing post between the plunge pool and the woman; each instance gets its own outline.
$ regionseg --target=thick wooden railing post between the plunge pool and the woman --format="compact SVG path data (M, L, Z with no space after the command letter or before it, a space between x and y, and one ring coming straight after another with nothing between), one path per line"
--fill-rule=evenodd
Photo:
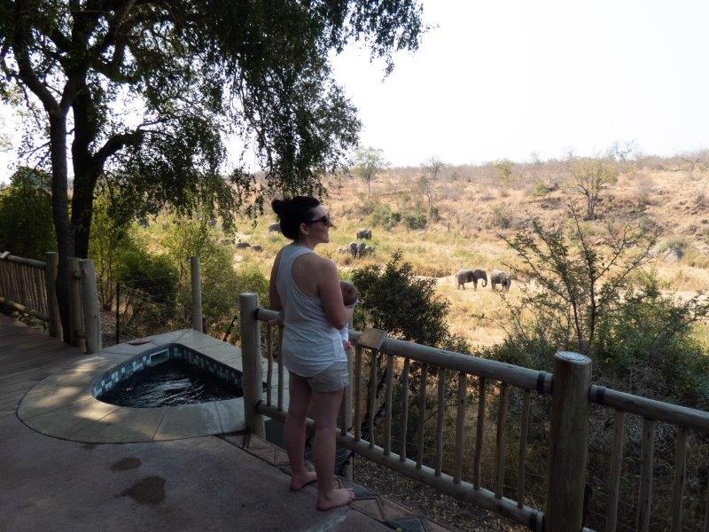
M263 375L261 370L261 328L256 319L259 296L242 293L238 296L241 325L241 359L244 371L244 419L246 430L266 437L263 416L256 411L256 405L263 399ZM278 356L278 364L283 364ZM270 390L269 390L270 393Z

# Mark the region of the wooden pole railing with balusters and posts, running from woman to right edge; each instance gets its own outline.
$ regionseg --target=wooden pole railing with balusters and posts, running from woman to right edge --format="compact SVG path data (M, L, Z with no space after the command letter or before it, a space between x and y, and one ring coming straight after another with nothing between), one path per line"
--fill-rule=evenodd
M244 397L245 422L248 430L264 435L263 416L284 420L287 408L284 406L284 369L280 361L274 361L274 346L280 334L274 333L267 325L267 394L264 396L261 370L261 327L260 321L277 317L269 309L259 308L258 299L253 293L242 293L241 336L242 356L244 359ZM377 349L362 345L362 333L350 332L351 340L357 346L354 357L349 356L350 387L343 400L340 412L337 442L341 447L352 450L362 457L385 465L417 481L425 482L440 491L462 501L479 505L490 512L503 515L533 530L588 530L582 528L584 512L584 489L588 455L589 410L592 403L612 408L617 411L615 422L615 442L612 450L612 471L610 480L609 503L607 508L606 530L615 530L619 493L620 462L622 458L623 414L629 412L645 419L645 437L643 439L643 467L641 473L641 495L637 530L647 530L651 505L652 473L652 434L656 421L666 421L680 427L677 438L677 460L675 473L673 530L681 529L682 485L684 481L684 453L686 434L696 430L709 434L709 413L689 408L660 403L622 394L615 390L591 386L590 360L575 353L557 353L554 360L554 372L538 372L528 368L503 364L474 356L463 355L438 348L386 338ZM364 363L369 360L369 379L364 387ZM383 383L384 415L383 436L375 442L374 416L378 400L378 360L386 364ZM274 368L276 364L276 368ZM419 386L418 396L409 397L409 382L412 378L413 364L417 364ZM398 376L397 376L398 373ZM453 375L455 384L448 384L447 375ZM435 378L434 378L435 377ZM276 379L276 397L272 398L273 379ZM393 448L392 403L393 382L401 383L401 412L398 434L398 446ZM465 449L466 414L469 407L468 388L470 379L474 379L478 390L477 419L473 449ZM435 452L431 463L425 464L425 419L429 388L434 384L436 400L435 414ZM450 388L450 389L448 389ZM552 390L553 388L553 390ZM507 431L505 426L510 414L510 392L516 389L521 395L521 411L518 426L518 457L516 497L511 499L503 495L505 460L508 456ZM456 394L456 424L453 434L453 465L451 474L443 469L444 432L446 397L450 392ZM553 393L552 393L553 391ZM432 394L431 394L432 395ZM525 464L527 449L527 427L529 426L530 403L534 397L551 395L551 413L549 419L549 469L546 485L546 505L542 512L525 504ZM496 399L495 427L495 478L492 485L484 487L480 473L481 458L485 442L487 423L486 408L490 398ZM275 404L274 404L275 403ZM417 405L417 434L407 434L409 430L409 406ZM368 419L362 411L368 411ZM425 413L424 413L425 412ZM312 424L312 421L308 420ZM362 426L369 430L362 434ZM416 456L408 457L407 442L416 442ZM464 479L463 465L472 457L471 478ZM709 491L709 489L707 490ZM709 501L707 502L709 506ZM709 532L709 510L705 531Z

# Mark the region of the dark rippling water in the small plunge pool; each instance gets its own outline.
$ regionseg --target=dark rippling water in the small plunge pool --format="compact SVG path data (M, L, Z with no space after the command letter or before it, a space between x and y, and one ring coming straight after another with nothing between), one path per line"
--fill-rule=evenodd
M134 408L208 403L243 396L237 384L180 358L148 366L98 395L104 403Z

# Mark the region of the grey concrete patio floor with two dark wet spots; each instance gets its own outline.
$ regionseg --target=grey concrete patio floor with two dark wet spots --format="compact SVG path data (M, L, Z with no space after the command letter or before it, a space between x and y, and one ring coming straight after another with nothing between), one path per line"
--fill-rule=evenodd
M0 419L0 529L12 532L391 530L352 507L318 512L315 489L226 439L89 444Z

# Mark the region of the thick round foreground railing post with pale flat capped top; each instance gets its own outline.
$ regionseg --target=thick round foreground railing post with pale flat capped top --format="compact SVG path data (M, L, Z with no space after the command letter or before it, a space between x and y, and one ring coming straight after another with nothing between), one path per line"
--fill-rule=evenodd
M579 532L582 527L590 385L588 356L565 351L554 356L549 483L544 513L547 532Z

